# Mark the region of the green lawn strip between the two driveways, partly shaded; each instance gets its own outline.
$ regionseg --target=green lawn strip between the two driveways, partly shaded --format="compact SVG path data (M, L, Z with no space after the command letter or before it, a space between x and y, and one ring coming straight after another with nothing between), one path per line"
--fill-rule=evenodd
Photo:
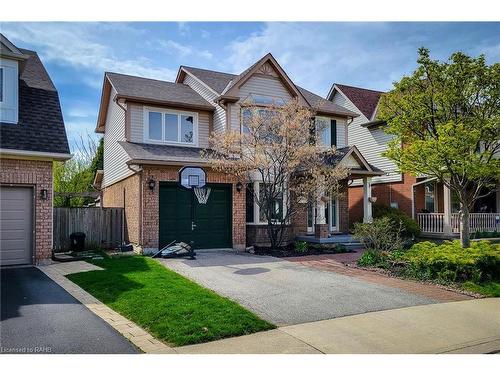
M274 326L142 256L94 260L104 271L67 277L153 336L180 346L246 335Z

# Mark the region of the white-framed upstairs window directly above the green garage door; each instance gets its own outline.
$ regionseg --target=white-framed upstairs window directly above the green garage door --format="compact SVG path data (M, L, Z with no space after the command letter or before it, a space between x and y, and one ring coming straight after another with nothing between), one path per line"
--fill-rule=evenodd
M198 114L170 109L144 109L144 139L152 143L198 144Z

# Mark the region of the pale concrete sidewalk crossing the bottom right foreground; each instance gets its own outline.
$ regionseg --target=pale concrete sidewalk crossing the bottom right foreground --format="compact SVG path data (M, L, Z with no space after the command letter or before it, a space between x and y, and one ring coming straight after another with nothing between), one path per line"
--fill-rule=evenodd
M492 353L500 351L500 298L407 307L298 324L178 353Z

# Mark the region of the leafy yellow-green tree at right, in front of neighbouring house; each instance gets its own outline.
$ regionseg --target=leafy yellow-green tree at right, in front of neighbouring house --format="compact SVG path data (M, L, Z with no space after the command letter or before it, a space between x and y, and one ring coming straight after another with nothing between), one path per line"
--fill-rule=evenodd
M441 62L425 48L417 62L379 104L395 136L385 155L401 171L436 177L456 193L461 242L469 247L469 212L500 179L500 64L462 52Z

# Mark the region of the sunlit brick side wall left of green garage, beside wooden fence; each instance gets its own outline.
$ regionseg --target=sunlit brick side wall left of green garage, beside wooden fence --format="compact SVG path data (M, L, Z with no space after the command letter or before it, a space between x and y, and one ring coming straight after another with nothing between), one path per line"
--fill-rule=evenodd
M140 174L135 174L106 187L102 193L103 207L125 209L125 240L140 244Z

